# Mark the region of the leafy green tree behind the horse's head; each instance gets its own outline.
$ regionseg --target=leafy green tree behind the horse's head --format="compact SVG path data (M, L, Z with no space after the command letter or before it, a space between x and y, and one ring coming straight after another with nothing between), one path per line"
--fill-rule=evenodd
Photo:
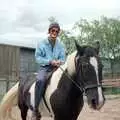
M120 20L104 16L91 22L81 19L76 22L74 29L78 31L77 40L81 44L100 41L101 56L109 59L113 73L114 63L120 60Z

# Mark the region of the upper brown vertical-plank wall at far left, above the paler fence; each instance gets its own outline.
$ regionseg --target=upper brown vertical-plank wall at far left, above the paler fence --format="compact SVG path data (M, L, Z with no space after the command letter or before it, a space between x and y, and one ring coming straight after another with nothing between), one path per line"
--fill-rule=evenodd
M19 75L19 47L0 45L0 75Z

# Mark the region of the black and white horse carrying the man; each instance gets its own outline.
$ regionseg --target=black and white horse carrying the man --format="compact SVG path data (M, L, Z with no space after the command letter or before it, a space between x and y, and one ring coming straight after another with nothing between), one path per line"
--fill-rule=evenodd
M54 120L77 120L84 105L84 95L91 109L99 110L105 103L100 46L81 46L77 42L75 45L76 51L50 77L39 105L39 120L45 114ZM5 120L7 113L10 117L15 105L19 106L22 120L26 120L28 110L32 112L35 105L35 83L34 77L26 77L8 91L0 105L1 120Z

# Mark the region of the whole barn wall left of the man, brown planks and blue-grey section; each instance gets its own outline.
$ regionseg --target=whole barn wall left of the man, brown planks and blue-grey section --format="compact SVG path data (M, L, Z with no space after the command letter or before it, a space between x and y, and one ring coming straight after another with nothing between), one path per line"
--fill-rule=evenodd
M20 76L35 72L35 49L0 45L0 97L6 93Z

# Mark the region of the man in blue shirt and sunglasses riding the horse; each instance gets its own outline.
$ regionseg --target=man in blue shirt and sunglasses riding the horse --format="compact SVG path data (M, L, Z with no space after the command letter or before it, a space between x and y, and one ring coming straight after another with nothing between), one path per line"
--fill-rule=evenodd
M46 76L54 68L65 62L65 49L57 38L60 32L58 23L51 23L48 29L49 36L37 45L35 58L40 65L35 86L35 114L39 113L38 106L45 89Z

